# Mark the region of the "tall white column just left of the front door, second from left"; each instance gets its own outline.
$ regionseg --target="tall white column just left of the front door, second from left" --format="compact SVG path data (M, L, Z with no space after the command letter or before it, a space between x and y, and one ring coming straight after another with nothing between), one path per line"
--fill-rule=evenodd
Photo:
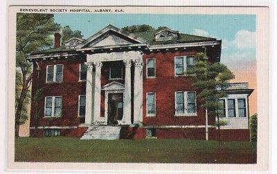
M101 68L102 63L94 62L93 63L96 72L95 72L95 81L94 81L94 102L93 102L93 122L100 121L100 104L101 104Z

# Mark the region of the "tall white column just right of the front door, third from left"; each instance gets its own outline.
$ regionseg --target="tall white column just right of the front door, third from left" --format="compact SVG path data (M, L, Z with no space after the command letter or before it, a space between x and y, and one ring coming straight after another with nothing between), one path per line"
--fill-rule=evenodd
M131 60L125 60L125 93L123 106L123 124L131 124Z

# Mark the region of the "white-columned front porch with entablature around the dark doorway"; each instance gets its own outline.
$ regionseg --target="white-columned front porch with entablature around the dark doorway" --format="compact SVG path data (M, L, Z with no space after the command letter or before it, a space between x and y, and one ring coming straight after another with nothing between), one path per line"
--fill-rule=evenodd
M111 74L109 63L123 65L120 78ZM131 125L143 122L143 61L139 51L87 55L84 124ZM104 70L103 70L104 68ZM106 68L106 69L105 69ZM109 68L109 79L102 75Z

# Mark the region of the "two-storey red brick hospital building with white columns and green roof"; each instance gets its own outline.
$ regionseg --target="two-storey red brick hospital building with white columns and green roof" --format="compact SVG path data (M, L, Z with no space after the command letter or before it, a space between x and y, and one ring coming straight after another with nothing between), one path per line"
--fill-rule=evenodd
M82 139L216 139L214 117L200 107L190 78L197 52L220 61L221 41L169 28L129 33L107 26L29 55L33 62L30 135ZM220 99L229 123L222 139L249 140L247 83Z

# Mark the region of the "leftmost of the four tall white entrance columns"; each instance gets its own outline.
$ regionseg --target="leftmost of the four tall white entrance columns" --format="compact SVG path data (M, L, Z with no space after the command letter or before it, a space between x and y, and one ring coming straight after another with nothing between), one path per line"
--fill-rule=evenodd
M87 84L86 84L86 114L84 117L84 124L90 125L92 121L92 70L93 64L87 62Z

